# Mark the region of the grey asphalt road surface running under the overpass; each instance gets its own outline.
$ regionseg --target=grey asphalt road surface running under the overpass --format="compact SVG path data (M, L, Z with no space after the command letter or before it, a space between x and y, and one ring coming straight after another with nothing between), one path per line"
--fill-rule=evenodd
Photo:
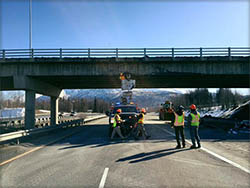
M107 122L1 166L0 187L250 186L249 173L201 149L174 149L173 130L156 116L146 116L149 140L110 141Z

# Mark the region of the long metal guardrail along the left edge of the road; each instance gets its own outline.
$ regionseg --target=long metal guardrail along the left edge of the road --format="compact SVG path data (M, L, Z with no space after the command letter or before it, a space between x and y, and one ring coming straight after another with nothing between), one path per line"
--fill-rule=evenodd
M48 127L44 127L44 128L35 128L35 129L22 130L22 131L16 131L16 132L12 132L12 133L1 134L0 135L0 143L5 142L5 141L9 141L9 140L13 140L13 139L18 139L18 138L21 138L24 136L49 132L49 131L63 128L63 127L81 125L81 124L87 123L89 121L97 120L97 119L100 119L103 117L106 117L106 115L97 116L97 117L88 118L88 119L76 119L76 120L66 121L66 122L60 123L58 125L48 126Z

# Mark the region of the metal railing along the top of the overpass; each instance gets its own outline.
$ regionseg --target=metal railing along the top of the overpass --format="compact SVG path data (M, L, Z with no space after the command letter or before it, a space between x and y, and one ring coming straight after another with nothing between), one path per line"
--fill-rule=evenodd
M5 58L124 58L124 57L210 57L250 56L250 47L221 48L59 48L59 49L3 49Z

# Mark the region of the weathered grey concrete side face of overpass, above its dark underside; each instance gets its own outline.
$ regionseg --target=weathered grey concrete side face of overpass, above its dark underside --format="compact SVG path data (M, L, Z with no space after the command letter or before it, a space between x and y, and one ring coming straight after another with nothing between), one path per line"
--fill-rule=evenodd
M10 62L8 62L10 61ZM17 61L17 60L16 60ZM204 75L239 75L249 74L249 57L229 61L228 58L200 60L196 58L109 58L96 59L33 59L6 60L0 63L1 76L114 76L120 72L132 75L156 75L162 73L190 73Z

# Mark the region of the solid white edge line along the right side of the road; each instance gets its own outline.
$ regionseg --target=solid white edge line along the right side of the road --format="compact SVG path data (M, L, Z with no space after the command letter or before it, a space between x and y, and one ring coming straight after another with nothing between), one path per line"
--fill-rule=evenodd
M160 127L158 127L158 128L160 128ZM165 130L165 129L162 129L162 128L160 128L160 129L163 130L164 132L167 132L167 133L169 133L169 134L175 136L174 133L172 133L172 132L170 132L170 131L168 131L168 130ZM190 142L190 141L187 140L187 139L186 139L186 141L187 141L189 144L192 145L192 142ZM239 168L239 169L241 169L241 170L243 170L243 171L245 171L245 172L247 172L247 173L250 174L250 170L246 169L245 167L243 167L243 166L241 166L241 165L239 165L239 164L237 164L237 163L235 163L235 162L233 162L233 161L231 161L231 160L229 160L229 159L227 159L227 158L225 158L225 157L222 157L222 156L220 156L220 155L218 155L218 154L216 154L216 153L214 153L214 152L212 152L212 151L210 151L210 150L208 150L208 149L206 149L206 148L204 148L204 147L201 147L200 149L203 150L203 151L205 151L205 152L207 152L207 153L209 153L210 155L213 155L214 157L217 157L218 159L220 159L220 160L222 160L222 161L224 161L224 162L226 162L226 163L229 163L229 164L231 164L231 165L233 165L233 166L235 166L235 167L237 167L237 168Z

